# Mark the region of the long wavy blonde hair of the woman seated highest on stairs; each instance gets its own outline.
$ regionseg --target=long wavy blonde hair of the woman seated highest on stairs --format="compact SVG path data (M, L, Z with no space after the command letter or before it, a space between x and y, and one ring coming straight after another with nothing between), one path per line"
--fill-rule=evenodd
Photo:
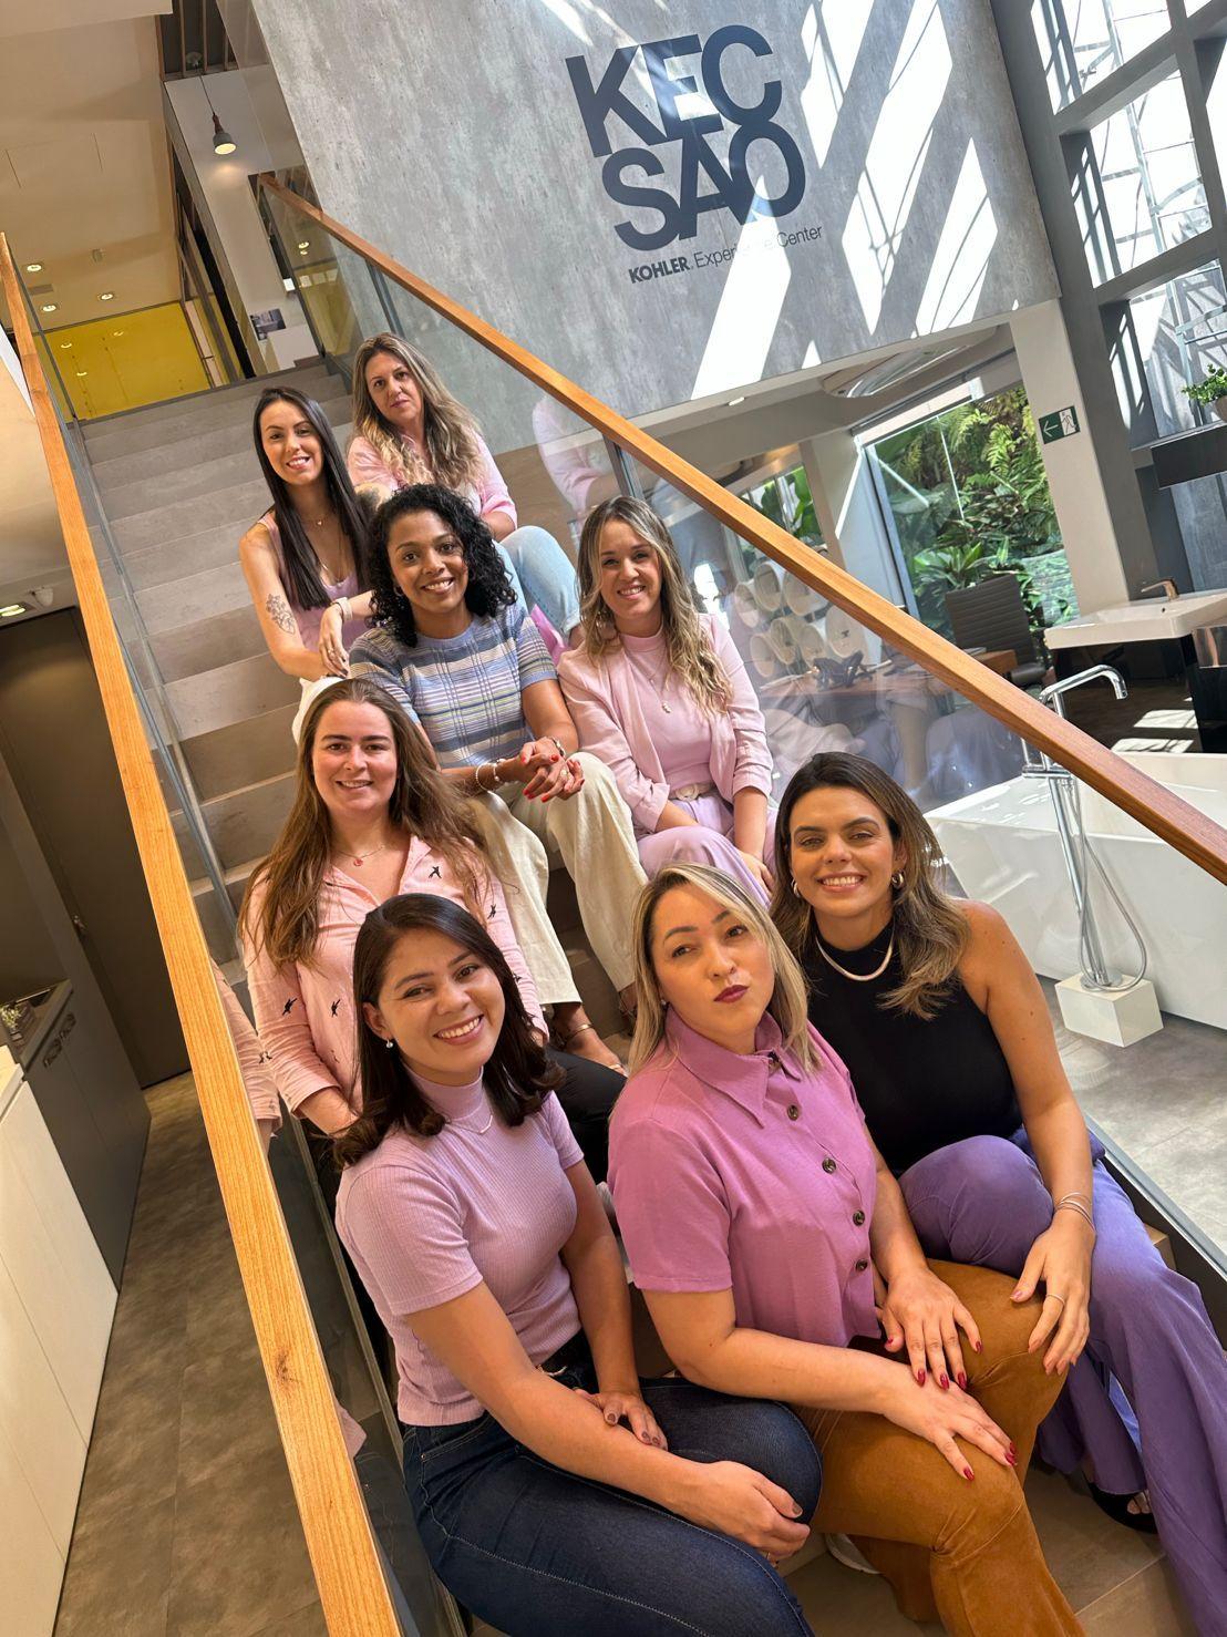
M380 414L370 386L366 365L388 352L411 372L422 395L424 449L407 445L396 427ZM380 460L399 478L411 483L440 483L445 489L479 489L483 478L478 422L443 385L443 378L424 352L383 331L370 336L353 357L353 431L375 447Z

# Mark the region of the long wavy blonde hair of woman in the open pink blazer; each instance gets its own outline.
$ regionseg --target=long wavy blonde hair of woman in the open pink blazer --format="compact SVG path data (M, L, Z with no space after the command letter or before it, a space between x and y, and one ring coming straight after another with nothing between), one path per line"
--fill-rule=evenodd
M589 660L600 660L622 647L614 612L600 594L600 535L607 522L625 522L656 553L669 670L708 715L726 710L733 689L699 620L672 535L651 506L630 494L615 494L594 506L579 537L579 619Z

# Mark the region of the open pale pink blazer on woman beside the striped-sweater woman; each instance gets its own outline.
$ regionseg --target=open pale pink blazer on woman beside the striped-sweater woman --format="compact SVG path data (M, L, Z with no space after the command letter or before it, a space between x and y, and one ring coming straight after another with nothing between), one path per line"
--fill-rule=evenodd
M738 791L771 796L767 730L746 666L715 616L700 616L700 624L733 691L728 710L712 722L712 784L730 804ZM627 655L615 648L594 663L582 648L568 648L558 661L558 681L571 707L579 748L605 763L635 823L654 833L669 786L643 719L643 684Z

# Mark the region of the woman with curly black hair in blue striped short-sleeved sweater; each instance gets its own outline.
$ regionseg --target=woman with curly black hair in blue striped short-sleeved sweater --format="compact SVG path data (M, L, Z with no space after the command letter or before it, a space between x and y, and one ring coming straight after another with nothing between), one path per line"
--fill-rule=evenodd
M434 483L401 489L375 516L370 561L375 629L353 645L350 674L386 688L443 776L479 799L496 868L522 887L515 931L560 1044L615 1064L579 1021L542 843L561 853L589 943L627 1005L630 910L646 881L627 804L605 764L579 751L553 661L466 501Z

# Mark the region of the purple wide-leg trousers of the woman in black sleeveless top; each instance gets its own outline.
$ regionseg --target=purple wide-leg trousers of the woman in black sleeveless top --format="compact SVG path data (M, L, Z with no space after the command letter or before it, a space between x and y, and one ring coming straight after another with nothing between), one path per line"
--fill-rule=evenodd
M1227 1637L1227 1362L1198 1287L1163 1262L1094 1138L1091 1149L1091 1336L1036 1449L1062 1472L1090 1457L1101 1490L1148 1490L1198 1630ZM900 1187L928 1256L1011 1277L1052 1221L1021 1131L937 1149ZM1111 1377L1137 1418L1140 1455Z

